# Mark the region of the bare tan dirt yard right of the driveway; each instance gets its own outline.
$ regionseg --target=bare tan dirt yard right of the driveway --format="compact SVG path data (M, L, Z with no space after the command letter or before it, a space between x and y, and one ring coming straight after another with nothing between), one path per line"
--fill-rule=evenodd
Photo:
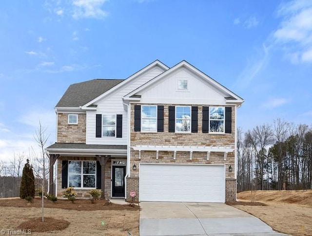
M269 224L274 230L294 236L312 236L312 190L250 191L237 194L246 211ZM252 202L249 204L249 202ZM262 206L254 202L265 203Z

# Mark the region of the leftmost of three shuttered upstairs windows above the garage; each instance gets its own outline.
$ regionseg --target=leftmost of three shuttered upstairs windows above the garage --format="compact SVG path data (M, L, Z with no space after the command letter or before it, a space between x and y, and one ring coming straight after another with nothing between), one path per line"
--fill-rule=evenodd
M141 131L157 131L157 106L142 106Z

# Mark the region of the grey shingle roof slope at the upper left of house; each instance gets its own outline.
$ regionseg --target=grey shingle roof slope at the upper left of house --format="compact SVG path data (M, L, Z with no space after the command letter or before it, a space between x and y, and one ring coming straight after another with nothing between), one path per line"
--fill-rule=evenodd
M68 87L56 107L80 107L115 87L123 79L93 79Z

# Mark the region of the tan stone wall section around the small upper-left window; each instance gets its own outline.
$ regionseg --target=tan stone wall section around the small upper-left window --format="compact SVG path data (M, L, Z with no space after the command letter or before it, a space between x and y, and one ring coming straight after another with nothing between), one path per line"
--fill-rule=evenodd
M78 124L68 124L68 114L58 113L58 143L86 143L86 114L78 114Z

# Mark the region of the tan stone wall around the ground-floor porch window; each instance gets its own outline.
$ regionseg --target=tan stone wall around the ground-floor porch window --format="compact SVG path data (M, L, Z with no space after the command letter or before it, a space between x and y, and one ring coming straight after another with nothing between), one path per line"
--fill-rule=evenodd
M61 197L62 191L64 189L62 188L62 161L63 160L68 160L68 161L97 161L95 157L59 157L58 159L58 178L57 178L57 196ZM105 198L110 198L111 197L111 166L112 162L111 159L108 160L105 166ZM85 198L85 197L90 197L90 194L88 193L91 189L93 188L87 188L87 189L78 189L74 188L75 192L77 192L77 197L80 198Z

